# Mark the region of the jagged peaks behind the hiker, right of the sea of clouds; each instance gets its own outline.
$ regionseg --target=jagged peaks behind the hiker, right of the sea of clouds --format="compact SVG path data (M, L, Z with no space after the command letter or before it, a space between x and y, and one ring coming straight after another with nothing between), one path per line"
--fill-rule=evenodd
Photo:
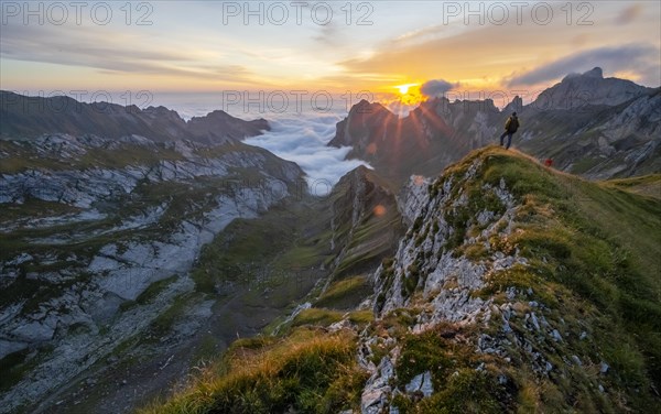
M556 168L588 178L627 177L661 171L661 88L604 78L600 68L566 76L523 106L516 97L502 111L490 99L434 98L404 118L361 101L337 123L328 145L350 145L349 159L371 163L403 184L409 175L437 175L470 150L496 143L517 110L514 148Z

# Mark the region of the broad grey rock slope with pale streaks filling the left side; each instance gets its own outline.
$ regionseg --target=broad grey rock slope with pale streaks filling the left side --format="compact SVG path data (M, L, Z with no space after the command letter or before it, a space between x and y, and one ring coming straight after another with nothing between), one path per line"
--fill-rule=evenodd
M0 156L0 358L31 366L0 412L140 335L193 291L205 243L305 188L295 164L240 143L51 134Z

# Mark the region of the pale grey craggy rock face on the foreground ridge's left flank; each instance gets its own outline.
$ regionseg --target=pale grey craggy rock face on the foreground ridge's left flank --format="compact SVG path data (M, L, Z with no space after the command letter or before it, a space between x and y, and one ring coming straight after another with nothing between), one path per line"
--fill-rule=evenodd
M477 159L463 174L433 184L420 177L411 178L400 197L403 216L410 222L409 231L400 241L393 259L383 262L373 275L375 313L378 318L386 318L397 309L414 312L418 315L415 322L411 323L414 334L430 331L447 323L475 325L489 320L491 301L473 297L473 293L485 286L490 273L525 265L525 259L517 254L497 253L483 261L473 261L457 257L453 251L455 246L481 243L494 237L507 238L512 229L511 222L518 208L514 197L505 182L498 186L487 184L480 188L481 196L492 198L495 203L476 216L467 216L479 224L483 231L472 238L457 238L462 230L451 219L453 213L449 211L472 208L469 206L474 200L462 190L457 192L457 188L463 186L462 183L477 179L481 161ZM494 206L497 208L494 209ZM416 292L421 292L421 295ZM379 346L383 338L364 336L361 341L368 346L359 348L364 352L359 360L369 361L373 359L371 350L377 348L375 345ZM392 386L397 383L392 367L398 363L401 345L395 345L394 338L386 342L390 345L379 347L386 346L391 351L382 357L379 366L365 363L371 377L362 392L362 413L397 410L391 405L397 395L420 399L429 397L434 392L434 373L429 370L416 372L401 389Z

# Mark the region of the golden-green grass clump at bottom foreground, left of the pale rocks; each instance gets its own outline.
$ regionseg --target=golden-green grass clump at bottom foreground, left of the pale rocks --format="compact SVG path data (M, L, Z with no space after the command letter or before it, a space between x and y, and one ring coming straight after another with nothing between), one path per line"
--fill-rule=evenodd
M187 389L142 414L337 413L357 408L366 373L355 337L300 328L278 341L237 341Z

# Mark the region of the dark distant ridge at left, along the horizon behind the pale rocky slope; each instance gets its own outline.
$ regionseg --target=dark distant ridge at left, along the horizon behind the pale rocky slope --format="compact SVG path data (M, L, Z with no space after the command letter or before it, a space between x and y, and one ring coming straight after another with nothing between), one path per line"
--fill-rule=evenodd
M223 111L184 121L164 107L140 109L108 102L83 103L68 97L26 97L0 91L0 138L23 139L42 134L95 134L120 139L137 134L158 142L191 140L221 144L238 142L269 130L263 119L245 121Z

